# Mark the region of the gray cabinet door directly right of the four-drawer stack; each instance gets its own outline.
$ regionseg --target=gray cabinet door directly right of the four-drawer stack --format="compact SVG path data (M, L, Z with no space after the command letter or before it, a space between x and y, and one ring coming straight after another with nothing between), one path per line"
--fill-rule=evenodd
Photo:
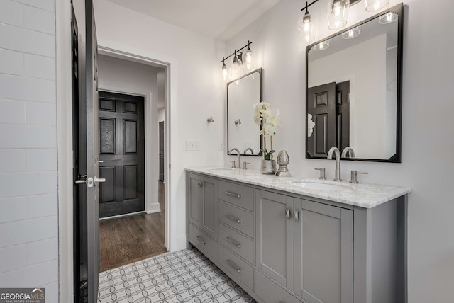
M257 268L289 290L294 287L293 200L265 190L255 193Z

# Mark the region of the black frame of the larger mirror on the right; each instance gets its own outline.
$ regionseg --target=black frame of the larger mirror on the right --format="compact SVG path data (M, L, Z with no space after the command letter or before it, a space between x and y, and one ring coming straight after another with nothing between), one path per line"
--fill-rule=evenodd
M399 18L397 18L397 123L396 123L396 154L391 156L389 159L363 159L363 158L342 158L342 160L349 160L349 161L370 161L370 162L388 162L388 163L401 163L402 162L402 63L403 63L403 25L404 25L404 4L397 4L396 6L393 6L392 8L389 8L387 10L381 11L380 13L377 13L376 15L365 19L364 21L361 21L359 23L356 23L355 25L352 25L348 28L343 28L341 32L335 33L333 35L330 35L326 38L323 38L322 40L319 40L317 42L312 43L311 45L306 46L306 133L304 134L305 141L306 141L306 159L326 159L322 157L314 157L309 154L307 151L307 147L309 144L309 139L307 137L308 133L308 127L307 127L307 113L308 113L308 104L307 101L309 99L309 50L311 50L312 47L315 45L319 44L320 42L323 42L325 40L331 39L337 35L341 35L343 32L350 30L352 28L355 28L358 25L362 25L364 23L367 23L375 18L378 18L379 16L382 16L384 13L388 12L393 12L396 13Z

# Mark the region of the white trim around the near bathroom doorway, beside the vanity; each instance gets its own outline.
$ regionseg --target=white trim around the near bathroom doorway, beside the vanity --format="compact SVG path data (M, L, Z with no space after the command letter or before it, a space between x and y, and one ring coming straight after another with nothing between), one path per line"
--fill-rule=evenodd
M125 59L128 61L133 61L133 62L138 62L146 65L151 65L153 67L161 67L165 70L165 122L164 122L164 129L167 130L165 132L165 138L164 138L164 149L165 149L165 155L164 155L164 184L165 184L165 231L164 231L164 237L165 237L165 243L164 246L169 250L169 251L174 251L178 247L177 244L177 221L172 220L172 217L170 217L170 214L175 214L177 213L175 203L172 202L172 172L170 171L170 164L171 162L171 151L172 151L172 128L170 127L172 123L171 119L171 112L172 112L172 98L171 98L171 91L172 91L172 86L171 86L171 79L174 79L175 81L175 73L172 74L171 72L171 63L170 62L164 62L159 59L152 59L150 57L143 57L140 55L135 55L130 52L123 52L121 50L114 50L109 47L104 47L101 45L98 45L98 52L99 55L106 55L110 57L116 57L119 59ZM172 66L175 69L175 63L172 63ZM118 88L116 88L118 89ZM151 99L150 99L151 100ZM145 101L146 105L146 101ZM148 111L145 108L145 111ZM156 118L157 118L157 107L156 107ZM145 115L145 120L146 120L146 115ZM157 120L157 119L156 119ZM145 125L146 128L146 125ZM156 135L158 130L156 130ZM145 136L148 134L145 132ZM157 140L157 137L156 137ZM145 153L147 152L147 149L145 147ZM156 150L157 152L157 150ZM159 165L159 159L156 159L157 165ZM145 157L145 165L147 164L146 157ZM156 171L157 171L157 166L156 166ZM146 174L146 172L145 172ZM146 176L145 176L146 179ZM155 181L157 181L158 178L156 178ZM145 181L146 182L146 181ZM145 183L146 184L146 183ZM175 192L176 190L174 190ZM145 193L146 195L146 193ZM146 198L145 198L146 199ZM146 204L146 203L145 203ZM146 210L146 208L145 208ZM183 247L184 248L184 247Z

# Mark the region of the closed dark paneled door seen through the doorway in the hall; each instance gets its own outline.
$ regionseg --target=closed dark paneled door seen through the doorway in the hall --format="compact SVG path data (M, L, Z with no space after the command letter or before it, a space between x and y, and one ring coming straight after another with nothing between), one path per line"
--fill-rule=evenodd
M99 217L145 210L145 98L99 92Z

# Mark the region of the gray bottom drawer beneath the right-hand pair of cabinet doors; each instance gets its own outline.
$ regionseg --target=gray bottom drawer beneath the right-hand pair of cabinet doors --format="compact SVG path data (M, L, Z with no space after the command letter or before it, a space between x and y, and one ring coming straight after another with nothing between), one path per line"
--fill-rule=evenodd
M265 302L300 303L300 301L279 287L275 282L255 270L255 295Z

